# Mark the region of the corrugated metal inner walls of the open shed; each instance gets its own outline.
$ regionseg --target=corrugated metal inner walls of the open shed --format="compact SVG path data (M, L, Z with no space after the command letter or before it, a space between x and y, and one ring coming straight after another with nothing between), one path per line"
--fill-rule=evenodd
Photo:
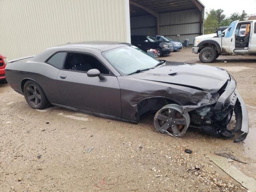
M160 35L168 36L173 40L185 38L193 44L194 38L200 35L200 16L197 9L177 12L161 13ZM201 16L202 17L202 16ZM131 34L157 35L156 18L152 15L131 18ZM180 37L177 37L180 34Z

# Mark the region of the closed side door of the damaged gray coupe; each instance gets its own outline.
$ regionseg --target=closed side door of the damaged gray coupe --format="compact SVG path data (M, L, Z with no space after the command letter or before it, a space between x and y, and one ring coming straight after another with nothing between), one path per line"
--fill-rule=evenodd
M67 68L66 62L69 54L78 53L67 54L64 67L60 70L57 77L59 94L63 105L121 117L120 87L116 76L102 74L104 80L100 80L99 77L88 77L86 70L100 68L99 65L102 65L104 68L106 67L95 56L82 53L79 54L93 57L95 62L90 61L90 67L84 71L74 68L68 69L70 66ZM85 57L84 63L86 62ZM97 65L96 62L98 62Z

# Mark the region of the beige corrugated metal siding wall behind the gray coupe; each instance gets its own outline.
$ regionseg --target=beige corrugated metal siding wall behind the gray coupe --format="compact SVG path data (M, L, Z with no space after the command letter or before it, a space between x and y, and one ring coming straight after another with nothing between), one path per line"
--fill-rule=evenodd
M10 59L67 42L130 42L129 0L0 0L0 53Z

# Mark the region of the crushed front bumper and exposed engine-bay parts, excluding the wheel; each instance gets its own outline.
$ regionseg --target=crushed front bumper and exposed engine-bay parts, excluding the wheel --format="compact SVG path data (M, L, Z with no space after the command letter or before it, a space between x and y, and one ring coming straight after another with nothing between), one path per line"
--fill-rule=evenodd
M249 130L248 112L232 76L214 99L217 100L214 104L189 112L190 126L216 137L232 138L235 132L240 132L234 142L243 141Z

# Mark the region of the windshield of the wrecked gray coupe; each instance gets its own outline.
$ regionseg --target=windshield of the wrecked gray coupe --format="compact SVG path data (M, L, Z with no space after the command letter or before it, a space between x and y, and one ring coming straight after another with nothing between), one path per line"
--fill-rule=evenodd
M132 46L108 50L102 55L121 75L127 75L139 69L152 68L160 62Z

